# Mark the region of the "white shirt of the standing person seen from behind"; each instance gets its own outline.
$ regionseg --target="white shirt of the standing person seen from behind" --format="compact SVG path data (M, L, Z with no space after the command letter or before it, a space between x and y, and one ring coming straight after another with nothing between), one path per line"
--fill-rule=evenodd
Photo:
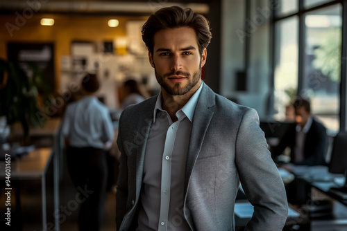
M110 111L95 96L86 96L67 105L62 135L69 137L71 147L110 147L114 129Z

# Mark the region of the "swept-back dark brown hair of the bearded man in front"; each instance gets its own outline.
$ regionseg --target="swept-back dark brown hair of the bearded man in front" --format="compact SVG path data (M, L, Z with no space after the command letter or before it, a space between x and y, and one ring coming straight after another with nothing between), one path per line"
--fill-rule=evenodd
M212 38L210 24L203 15L194 13L190 8L183 10L179 6L171 6L157 10L142 26L142 40L147 49L153 54L153 37L158 30L183 26L194 29L198 41L198 50L201 54L203 48L208 47Z

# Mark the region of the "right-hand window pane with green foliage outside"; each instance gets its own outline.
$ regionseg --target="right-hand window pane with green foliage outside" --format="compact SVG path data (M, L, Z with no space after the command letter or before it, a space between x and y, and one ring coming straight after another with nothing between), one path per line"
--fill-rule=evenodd
M341 21L339 4L305 15L304 81L299 92L311 99L312 113L334 131L339 130Z

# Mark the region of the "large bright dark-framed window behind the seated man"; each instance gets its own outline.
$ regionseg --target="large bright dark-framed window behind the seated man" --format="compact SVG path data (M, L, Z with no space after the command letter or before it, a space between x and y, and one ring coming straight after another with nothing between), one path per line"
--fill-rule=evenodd
M282 9L289 3L279 2L274 17L274 116L285 120L285 106L300 95L310 99L312 113L335 133L341 127L342 1L293 1L296 11L287 15Z

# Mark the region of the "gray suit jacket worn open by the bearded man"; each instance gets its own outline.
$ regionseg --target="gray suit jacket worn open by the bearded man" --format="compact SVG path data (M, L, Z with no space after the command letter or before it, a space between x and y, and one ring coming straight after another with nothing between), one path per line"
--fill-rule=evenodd
M154 98L126 108L119 120L117 230L134 230ZM239 183L254 213L246 230L282 230L287 197L254 109L214 93L203 83L185 168L184 216L192 230L234 230Z

